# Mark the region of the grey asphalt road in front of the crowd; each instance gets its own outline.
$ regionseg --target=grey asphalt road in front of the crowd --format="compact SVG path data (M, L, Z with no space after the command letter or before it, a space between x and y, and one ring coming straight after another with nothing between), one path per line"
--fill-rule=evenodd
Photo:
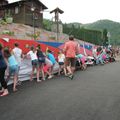
M120 63L77 71L74 80L24 82L0 98L0 120L120 120Z

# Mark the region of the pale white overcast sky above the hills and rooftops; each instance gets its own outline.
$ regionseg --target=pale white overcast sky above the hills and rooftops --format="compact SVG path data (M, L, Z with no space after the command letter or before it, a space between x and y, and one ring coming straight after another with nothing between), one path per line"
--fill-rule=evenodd
M18 0L8 0L15 2ZM64 11L60 15L63 23L79 22L82 24L109 19L120 22L120 0L40 0L48 7L44 18L52 19L54 14L49 11L59 7Z

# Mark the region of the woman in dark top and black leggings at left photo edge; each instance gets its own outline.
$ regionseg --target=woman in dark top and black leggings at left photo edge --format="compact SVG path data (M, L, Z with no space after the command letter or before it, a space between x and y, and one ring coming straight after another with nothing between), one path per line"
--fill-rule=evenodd
M7 83L5 81L5 70L7 68L7 64L4 60L3 54L2 54L2 44L0 44L0 83L2 86L1 95L0 96L6 96L9 94L7 89Z

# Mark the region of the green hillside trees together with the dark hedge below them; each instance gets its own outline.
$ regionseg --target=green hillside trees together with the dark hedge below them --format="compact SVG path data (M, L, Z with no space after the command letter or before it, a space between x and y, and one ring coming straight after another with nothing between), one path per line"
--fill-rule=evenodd
M44 28L50 31L52 21L44 19L43 23ZM90 24L64 23L63 33L98 45L120 44L120 23L110 20L99 20Z

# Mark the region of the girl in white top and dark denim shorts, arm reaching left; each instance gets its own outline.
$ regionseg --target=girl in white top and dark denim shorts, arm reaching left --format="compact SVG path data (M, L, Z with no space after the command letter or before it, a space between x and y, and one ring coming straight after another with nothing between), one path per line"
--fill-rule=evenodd
M31 63L32 63L32 72L31 72L31 77L30 77L30 81L33 80L33 74L34 71L36 70L36 78L37 78L37 82L41 82L41 80L39 80L39 63L38 63L38 58L37 58L37 51L35 50L35 48L32 46L31 50L27 53L27 56L30 56L31 58Z

